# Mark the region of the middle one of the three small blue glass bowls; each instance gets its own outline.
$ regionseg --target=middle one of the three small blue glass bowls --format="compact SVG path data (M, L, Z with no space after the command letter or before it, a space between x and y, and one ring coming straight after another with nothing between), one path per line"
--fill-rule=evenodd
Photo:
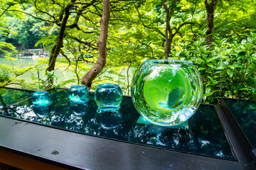
M89 91L85 85L71 86L68 90L68 98L73 103L85 103L89 101Z

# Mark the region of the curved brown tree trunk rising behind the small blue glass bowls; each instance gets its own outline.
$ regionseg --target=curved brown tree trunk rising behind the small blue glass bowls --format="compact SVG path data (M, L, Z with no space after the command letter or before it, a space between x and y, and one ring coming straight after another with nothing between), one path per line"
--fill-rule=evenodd
M99 74L107 62L107 33L108 25L110 22L110 0L103 0L103 13L100 19L100 38L97 41L99 48L99 58L97 63L87 72L83 77L81 84L87 86L87 89L91 89L92 81Z

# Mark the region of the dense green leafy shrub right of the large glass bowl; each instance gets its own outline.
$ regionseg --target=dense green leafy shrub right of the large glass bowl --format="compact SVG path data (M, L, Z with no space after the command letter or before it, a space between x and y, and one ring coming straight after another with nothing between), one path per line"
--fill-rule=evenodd
M178 50L176 56L195 64L203 78L204 103L215 103L221 97L255 99L256 34L250 33L240 42L216 38L206 45L204 31L199 40ZM202 35L203 33L203 35Z

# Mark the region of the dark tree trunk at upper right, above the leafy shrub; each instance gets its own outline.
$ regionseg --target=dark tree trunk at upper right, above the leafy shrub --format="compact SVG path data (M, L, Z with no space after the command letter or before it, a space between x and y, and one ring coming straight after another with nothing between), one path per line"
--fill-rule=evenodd
M206 32L206 44L211 45L213 42L213 18L214 18L214 11L218 0L212 0L210 4L208 4L208 0L205 1L206 11L207 11L207 32Z

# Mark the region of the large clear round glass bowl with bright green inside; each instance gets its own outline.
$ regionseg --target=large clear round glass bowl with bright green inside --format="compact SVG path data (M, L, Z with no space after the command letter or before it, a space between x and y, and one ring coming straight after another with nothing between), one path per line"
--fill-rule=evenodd
M132 101L150 123L178 125L196 112L203 83L196 67L182 60L146 60L132 79Z

